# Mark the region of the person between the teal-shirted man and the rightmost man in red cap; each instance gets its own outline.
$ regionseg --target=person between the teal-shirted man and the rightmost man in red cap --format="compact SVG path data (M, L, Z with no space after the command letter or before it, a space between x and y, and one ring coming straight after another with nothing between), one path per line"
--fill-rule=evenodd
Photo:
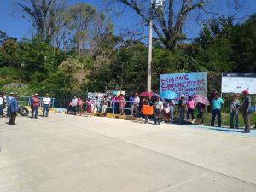
M239 114L240 102L236 99L236 95L231 97L230 101L230 128L238 129L238 114ZM235 119L235 126L234 126Z

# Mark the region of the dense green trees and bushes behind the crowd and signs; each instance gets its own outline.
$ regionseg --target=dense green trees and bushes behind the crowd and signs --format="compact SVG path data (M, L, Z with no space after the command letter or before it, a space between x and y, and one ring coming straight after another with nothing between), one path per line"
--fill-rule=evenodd
M69 16L58 18L64 28L50 38L39 30L17 41L0 31L0 90L22 83L28 87L15 90L22 95L49 93L62 102L87 90L146 90L148 47L113 35L113 24L104 15L88 4L79 6L67 8ZM153 90L159 90L161 73L207 71L212 90L219 89L221 72L256 72L255 43L256 15L236 25L230 18L212 18L194 40L177 44L175 52L155 40Z

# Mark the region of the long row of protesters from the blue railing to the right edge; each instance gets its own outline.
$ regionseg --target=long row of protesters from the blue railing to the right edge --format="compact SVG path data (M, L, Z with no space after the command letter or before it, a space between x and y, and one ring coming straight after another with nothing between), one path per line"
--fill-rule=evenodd
M242 98L242 102L238 100ZM211 126L215 125L216 117L218 119L218 127L222 126L222 110L224 109L224 100L217 91L212 92L212 97L209 99L211 105L212 119ZM252 111L252 99L247 90L242 91L242 96L233 94L230 99L230 128L237 129L239 127L238 115L241 109L242 117L245 123L245 130L242 132L250 132L250 116ZM83 106L85 108L83 108ZM143 113L146 106L152 107L150 113ZM165 123L174 122L174 109L177 108L176 122L179 124L195 123L195 119L200 120L200 125L205 124L205 113L207 111L206 104L195 102L191 96L186 100L186 96L180 96L177 105L173 99L162 99L160 96L139 96L135 93L133 96L113 95L102 96L102 98L88 98L83 101L81 97L73 96L72 101L69 103L67 112L76 115L79 112L81 115L82 110L91 113L102 113L106 116L107 111L110 113L130 114L137 118L143 118L144 123L148 123L149 119L154 121L155 125L160 125L160 122ZM195 117L195 109L198 114ZM112 110L112 112L111 112ZM148 110L148 109L147 109ZM126 111L126 112L125 112Z

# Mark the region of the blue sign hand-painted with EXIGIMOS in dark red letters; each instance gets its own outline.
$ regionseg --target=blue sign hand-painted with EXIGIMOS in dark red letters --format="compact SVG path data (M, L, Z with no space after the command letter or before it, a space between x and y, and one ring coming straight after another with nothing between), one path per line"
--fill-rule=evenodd
M184 95L186 98L193 94L207 96L207 73L172 73L160 75L160 93L172 90L177 93L178 98Z

